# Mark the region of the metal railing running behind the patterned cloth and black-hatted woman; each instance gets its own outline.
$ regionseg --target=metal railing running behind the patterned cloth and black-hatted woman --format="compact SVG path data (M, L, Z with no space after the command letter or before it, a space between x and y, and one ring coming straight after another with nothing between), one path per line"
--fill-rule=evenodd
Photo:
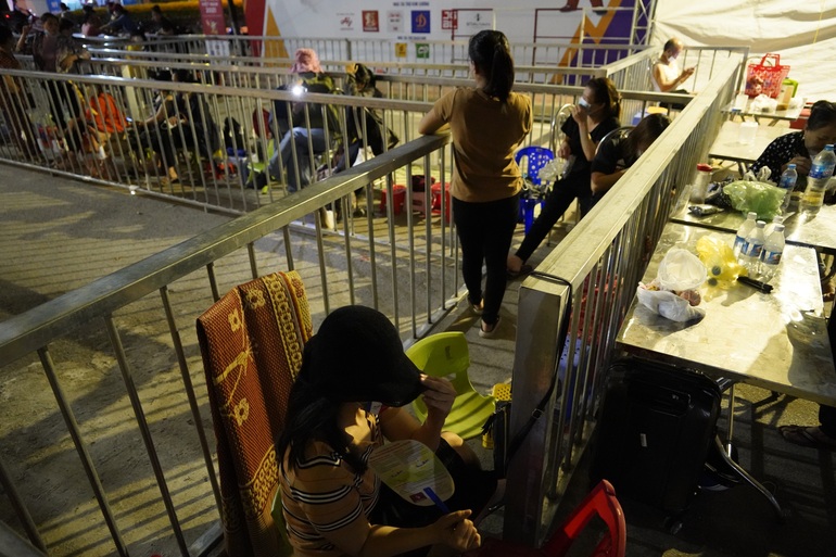
M215 543L220 495L214 451L206 439L211 433L204 431L206 393L193 385L195 380L203 382L194 319L235 284L263 273L296 269L305 283L315 327L331 308L362 303L385 313L402 330L406 343L420 338L461 294L456 239L445 218L419 218L413 211L398 215L393 202L387 205L385 221L373 219L370 188L376 180L385 180L388 199L393 200L391 175L401 168L410 175L415 166L429 176L431 157L440 163L438 176L448 180L448 139L432 136L415 140L377 157L373 164L351 168L3 321L0 369L4 377L43 374L56 401L54 412L60 412L72 439L72 445L56 447L48 455L17 455L0 467L0 484L7 486L5 496L12 499L33 544L50 547L61 541L76 552L89 544L85 555L126 556L148 553L143 545L147 539L168 539L169 552L179 548L180 555L187 556L202 554ZM365 193L369 216L353 219L346 215L342 233L324 233L316 216L319 210L344 201L358 189ZM409 186L406 194L409 200L420 199L425 207L432 205L429 189L415 192ZM442 195L442 215L449 211L448 203ZM292 226L306 215L315 215L313 226L301 231ZM140 314L144 316L142 325L137 325L132 319ZM143 332L137 336L134 327ZM121 376L124 383L122 392L113 392L107 408L98 409L110 415L104 429L76 418L78 412L88 415L96 410L67 394L72 379L61 374L67 357L63 343L79 337L96 339L96 352L112 357L104 382L117 382L115 378ZM153 357L145 357L148 351ZM161 385L165 385L163 392ZM180 409L161 410L161 398L169 410ZM172 431L161 430L161 420L183 425L177 428L177 443L170 443ZM3 432L7 438L15 434L20 431ZM119 459L134 463L130 474L132 482L145 485L142 493L156 486L156 501L152 497L148 504L131 506L122 501L119 490L107 485L99 468L112 457L115 435L137 438L136 447L125 447ZM81 522L74 515L76 505L71 504L47 520L65 530L48 528L47 535L41 535L27 506L41 496L41 485L27 482L15 486L13 478L24 466L28 474L37 474L46 461L72 452L71 447L78 454L89 482L87 489L98 502L102 526L91 528L89 517ZM145 459L153 470L151 478L145 476ZM186 478L183 469L188 470ZM116 479L117 483L127 478ZM79 502L89 498L84 485L66 489ZM84 508L85 515L93 512L87 504ZM149 520L148 516L155 518ZM78 540L66 530L76 521L76 530L85 532Z

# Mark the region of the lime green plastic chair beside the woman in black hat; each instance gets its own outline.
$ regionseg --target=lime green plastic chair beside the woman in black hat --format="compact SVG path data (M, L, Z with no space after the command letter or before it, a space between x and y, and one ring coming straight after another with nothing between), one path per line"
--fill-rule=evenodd
M467 368L470 367L470 352L464 332L441 332L419 340L406 350L406 355L428 376L445 377L456 389L453 409L444 422L444 429L471 439L482 432L482 426L496 408L493 396L479 394ZM413 401L413 410L419 420L427 418L427 406L422 397Z

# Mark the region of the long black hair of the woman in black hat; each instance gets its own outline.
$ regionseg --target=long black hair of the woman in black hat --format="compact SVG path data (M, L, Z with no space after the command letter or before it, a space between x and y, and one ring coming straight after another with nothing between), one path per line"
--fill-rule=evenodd
M305 352L308 352L309 346L308 343ZM294 469L299 461L304 459L308 443L322 441L339 454L355 473L364 473L367 465L352 451L351 439L338 425L342 405L326 397L318 388L306 380L305 362L309 359L303 353L302 369L288 398L287 421L276 441L276 458L281 463L287 454L288 467Z

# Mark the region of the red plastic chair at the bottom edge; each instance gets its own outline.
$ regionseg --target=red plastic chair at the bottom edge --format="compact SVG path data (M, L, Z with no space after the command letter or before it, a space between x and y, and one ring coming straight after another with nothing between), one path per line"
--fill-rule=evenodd
M598 482L542 548L487 539L483 540L479 549L464 555L466 557L562 557L569 553L572 543L595 515L604 521L608 531L590 556L624 557L626 553L624 512L616 498L616 490L607 480Z

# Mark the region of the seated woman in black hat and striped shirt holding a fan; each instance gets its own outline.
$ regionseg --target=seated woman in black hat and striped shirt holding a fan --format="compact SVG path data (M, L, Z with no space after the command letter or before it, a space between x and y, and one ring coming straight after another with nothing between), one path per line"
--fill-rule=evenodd
M423 423L402 406L421 396ZM463 440L442 431L456 396L444 378L422 375L389 319L370 307L340 307L305 344L277 443L281 508L293 555L461 553L481 539L473 521L494 494L492 472ZM388 441L420 441L455 481L452 510L413 505L368 466ZM426 549L425 549L426 548Z

